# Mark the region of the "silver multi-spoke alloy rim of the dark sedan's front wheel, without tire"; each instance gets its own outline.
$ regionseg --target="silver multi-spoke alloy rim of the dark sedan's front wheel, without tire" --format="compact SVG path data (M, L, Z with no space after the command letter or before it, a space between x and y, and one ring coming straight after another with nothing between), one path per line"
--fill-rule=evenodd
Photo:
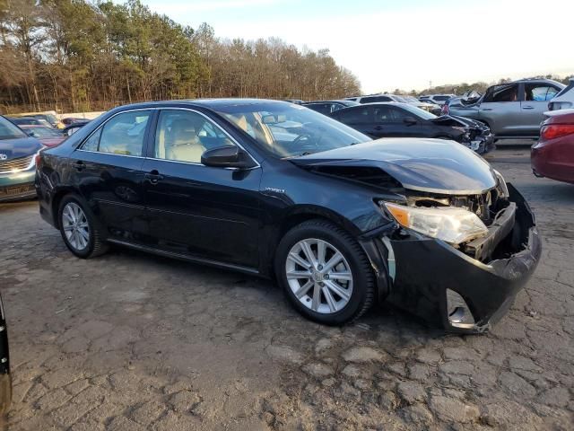
M316 238L297 242L287 256L285 275L293 295L314 312L339 312L351 299L351 267L329 242Z

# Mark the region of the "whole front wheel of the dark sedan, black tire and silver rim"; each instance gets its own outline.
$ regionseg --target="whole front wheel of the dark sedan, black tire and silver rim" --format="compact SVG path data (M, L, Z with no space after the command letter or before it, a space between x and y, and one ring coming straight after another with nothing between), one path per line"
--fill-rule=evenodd
M325 251L320 253L319 247ZM309 251L315 263L309 264ZM342 259L333 265L336 251ZM349 233L326 220L293 227L279 243L274 264L285 295L311 321L343 325L358 319L374 301L375 275L367 255Z

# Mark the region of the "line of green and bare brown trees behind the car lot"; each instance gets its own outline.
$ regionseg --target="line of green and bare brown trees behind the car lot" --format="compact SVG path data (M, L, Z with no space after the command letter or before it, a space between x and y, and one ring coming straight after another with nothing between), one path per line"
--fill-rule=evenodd
M332 99L360 92L328 49L223 40L139 0L0 0L0 111L108 110L202 97Z

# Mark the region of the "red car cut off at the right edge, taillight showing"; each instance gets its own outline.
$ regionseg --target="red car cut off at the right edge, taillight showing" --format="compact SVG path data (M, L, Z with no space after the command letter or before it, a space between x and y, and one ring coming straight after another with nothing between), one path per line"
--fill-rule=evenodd
M574 184L574 110L552 110L542 124L530 161L537 177Z

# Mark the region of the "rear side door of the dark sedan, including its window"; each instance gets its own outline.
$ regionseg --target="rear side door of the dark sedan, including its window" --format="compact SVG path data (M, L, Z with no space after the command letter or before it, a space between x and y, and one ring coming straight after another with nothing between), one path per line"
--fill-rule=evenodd
M111 237L140 241L147 234L142 165L152 114L119 112L70 154L71 183Z

